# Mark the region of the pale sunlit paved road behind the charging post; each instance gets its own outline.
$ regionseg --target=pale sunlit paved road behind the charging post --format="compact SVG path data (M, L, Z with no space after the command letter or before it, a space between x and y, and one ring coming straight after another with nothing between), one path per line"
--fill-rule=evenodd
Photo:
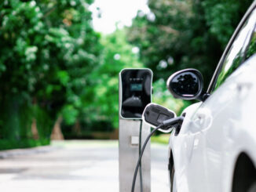
M0 153L0 190L119 191L117 141L53 142L51 147ZM20 153L19 155L17 155ZM168 190L167 147L152 144L152 192Z

